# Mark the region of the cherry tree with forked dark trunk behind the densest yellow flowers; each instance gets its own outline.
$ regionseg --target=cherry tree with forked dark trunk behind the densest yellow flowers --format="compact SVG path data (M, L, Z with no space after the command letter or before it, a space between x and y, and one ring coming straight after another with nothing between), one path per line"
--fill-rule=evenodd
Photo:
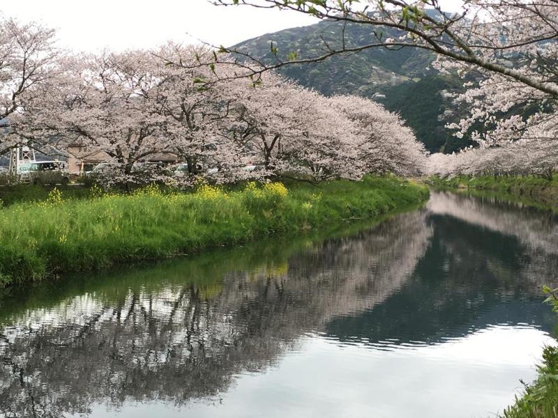
M250 164L283 176L362 176L350 143L354 129L324 96L272 72L257 84L243 79L234 82L239 93L229 134Z

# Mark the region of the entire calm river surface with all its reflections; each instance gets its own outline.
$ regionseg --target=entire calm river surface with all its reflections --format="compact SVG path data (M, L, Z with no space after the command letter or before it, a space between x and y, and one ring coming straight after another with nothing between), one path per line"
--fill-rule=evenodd
M434 193L320 240L0 299L0 417L489 417L555 318L554 215Z

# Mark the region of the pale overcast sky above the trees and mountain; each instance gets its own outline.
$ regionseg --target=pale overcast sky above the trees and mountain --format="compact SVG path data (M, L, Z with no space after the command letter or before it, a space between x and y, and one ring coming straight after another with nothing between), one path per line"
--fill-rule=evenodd
M167 40L197 39L232 46L317 22L296 12L213 6L206 0L3 0L0 11L57 29L60 44L75 51L149 48Z

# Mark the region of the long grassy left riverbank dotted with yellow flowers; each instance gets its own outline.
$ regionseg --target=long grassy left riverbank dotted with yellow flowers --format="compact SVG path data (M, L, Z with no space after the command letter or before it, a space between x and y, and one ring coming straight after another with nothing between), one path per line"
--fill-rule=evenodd
M46 201L0 209L0 286L372 218L427 196L425 187L373 177L289 189L249 183L229 192L92 189L89 199L74 200L55 190Z

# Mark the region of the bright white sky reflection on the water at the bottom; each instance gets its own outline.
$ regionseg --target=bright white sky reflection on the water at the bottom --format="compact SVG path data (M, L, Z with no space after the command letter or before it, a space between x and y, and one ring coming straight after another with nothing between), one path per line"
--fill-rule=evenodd
M96 405L91 417L485 418L513 401L521 389L518 376L535 378L541 348L552 343L541 330L508 325L393 351L313 334L279 366L236 376L234 386L210 403L174 410L126 404L118 411Z

